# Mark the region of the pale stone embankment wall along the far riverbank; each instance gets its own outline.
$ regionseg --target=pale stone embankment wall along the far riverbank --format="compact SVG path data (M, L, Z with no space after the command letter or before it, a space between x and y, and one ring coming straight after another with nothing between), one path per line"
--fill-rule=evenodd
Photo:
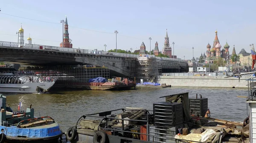
M157 76L156 83L170 84L172 87L221 87L221 88L248 88L246 79L249 76L238 78L227 76Z

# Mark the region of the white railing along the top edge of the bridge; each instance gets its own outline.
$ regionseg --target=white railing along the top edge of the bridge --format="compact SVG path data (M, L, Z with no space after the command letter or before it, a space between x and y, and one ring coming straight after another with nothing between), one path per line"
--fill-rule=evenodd
M130 53L114 53L114 52L107 52L103 50L87 50L87 49L78 49L78 48L62 48L56 46L48 46L48 45L36 45L36 44L24 44L22 47L18 47L17 42L6 42L0 41L0 46L3 47L10 47L10 48L17 48L17 49L35 49L35 50L55 50L55 51L64 51L69 53L90 53L96 55L113 55L113 56L122 56L122 57L140 57L140 55L130 54ZM154 55L151 55L154 56ZM164 57L155 57L157 59L164 59L169 61L180 61L185 62L182 59L173 59L173 58L164 58Z

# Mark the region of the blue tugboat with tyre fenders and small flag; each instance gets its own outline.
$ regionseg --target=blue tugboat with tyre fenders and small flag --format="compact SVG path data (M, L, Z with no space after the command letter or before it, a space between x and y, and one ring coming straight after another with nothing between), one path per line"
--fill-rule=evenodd
M0 94L0 143L6 142L52 142L63 135L59 125L49 116L34 117L34 109L22 107L20 101L18 111L6 107L6 96Z

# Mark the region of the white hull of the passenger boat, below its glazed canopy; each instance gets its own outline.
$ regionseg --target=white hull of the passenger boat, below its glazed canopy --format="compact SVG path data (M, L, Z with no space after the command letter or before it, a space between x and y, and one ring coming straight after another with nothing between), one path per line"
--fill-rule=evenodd
M33 82L24 84L0 84L0 93L39 93L47 92L55 82Z

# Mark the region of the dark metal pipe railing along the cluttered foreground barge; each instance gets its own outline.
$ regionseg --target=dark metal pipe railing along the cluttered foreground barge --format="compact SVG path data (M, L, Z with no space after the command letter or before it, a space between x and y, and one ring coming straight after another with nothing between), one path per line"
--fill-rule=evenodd
M99 125L98 125L98 130L99 129L103 129L103 130L111 130L111 131L117 131L117 132L124 132L124 133L132 133L132 134L137 134L137 135L145 135L147 136L147 141L150 141L150 142L158 142L154 139L156 138L160 138L160 139L165 139L165 140L175 140L176 143L179 143L179 141L186 141L186 142L195 142L195 143L203 143L203 142L200 142L200 141L194 141L194 140L184 140L184 139L177 139L175 138L175 135L173 134L165 134L165 133L160 133L160 132L150 132L150 125L149 125L149 110L145 110L147 111L147 120L134 120L134 119L124 119L124 118L113 118L113 117L107 117L107 115L111 115L111 112L112 111L118 111L118 110L122 110L122 111L125 111L125 109L116 109L116 110L111 110L111 111L107 111L107 112L100 112L100 113L95 113L95 114L90 114L90 115L83 115L79 118L79 120L77 121L76 123L76 129L78 128L77 125L80 121L81 118L86 118L86 117L91 117L91 118L102 118L102 120L99 122ZM131 110L142 110L142 109L131 109ZM131 111L129 109L129 111ZM95 115L102 115L102 116L95 116ZM121 129L109 129L107 128L108 126L108 119L113 119L113 120L122 120L122 130ZM105 127L101 127L101 123L103 121L106 121L105 122ZM138 121L138 122L146 122L146 130L147 130L147 133L140 133L140 132L130 132L130 131L125 131L124 129L124 121ZM163 126L161 126L163 127ZM166 127L166 126L165 126ZM171 126L170 126L171 127ZM153 128L151 128L153 129ZM160 129L162 131L166 131L166 132L170 132L170 130L167 130L167 129ZM153 133L153 134L158 134L158 135L151 135L150 133ZM167 135L167 136L172 136L173 138L171 137L163 137L163 136L160 136L160 135ZM150 140L150 137L152 137L152 140ZM133 136L134 138L134 136ZM165 143L165 142L161 142L161 143Z

